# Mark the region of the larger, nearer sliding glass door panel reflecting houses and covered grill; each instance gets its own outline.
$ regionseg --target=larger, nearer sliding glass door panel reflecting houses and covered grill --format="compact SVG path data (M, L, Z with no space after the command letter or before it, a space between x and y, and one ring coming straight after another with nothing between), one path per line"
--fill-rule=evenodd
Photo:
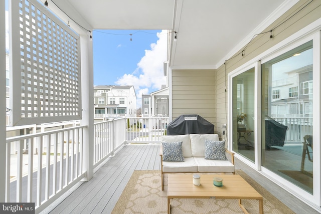
M313 193L312 41L262 64L262 166Z

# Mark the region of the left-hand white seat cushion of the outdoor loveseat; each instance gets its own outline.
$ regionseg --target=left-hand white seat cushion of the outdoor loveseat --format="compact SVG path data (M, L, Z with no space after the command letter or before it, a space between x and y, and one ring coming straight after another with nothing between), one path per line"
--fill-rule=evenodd
M198 166L193 157L185 157L184 162L163 161L163 172L197 172Z

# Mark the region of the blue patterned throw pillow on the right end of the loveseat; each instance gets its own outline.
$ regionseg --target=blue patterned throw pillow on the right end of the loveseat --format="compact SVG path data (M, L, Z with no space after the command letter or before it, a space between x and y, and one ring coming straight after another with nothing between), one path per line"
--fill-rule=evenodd
M225 155L225 140L223 141L205 140L205 159L227 160Z

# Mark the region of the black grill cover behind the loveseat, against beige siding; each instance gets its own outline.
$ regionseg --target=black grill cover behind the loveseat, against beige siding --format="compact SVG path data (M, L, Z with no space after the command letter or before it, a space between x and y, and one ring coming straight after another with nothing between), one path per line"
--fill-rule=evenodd
M167 127L167 135L214 134L214 125L197 114L181 115Z

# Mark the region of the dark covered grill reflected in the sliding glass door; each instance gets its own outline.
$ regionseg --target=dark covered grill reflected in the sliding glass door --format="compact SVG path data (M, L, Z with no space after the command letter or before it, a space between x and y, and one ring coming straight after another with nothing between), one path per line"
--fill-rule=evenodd
M265 120L265 144L266 146L283 146L287 126L273 120Z

